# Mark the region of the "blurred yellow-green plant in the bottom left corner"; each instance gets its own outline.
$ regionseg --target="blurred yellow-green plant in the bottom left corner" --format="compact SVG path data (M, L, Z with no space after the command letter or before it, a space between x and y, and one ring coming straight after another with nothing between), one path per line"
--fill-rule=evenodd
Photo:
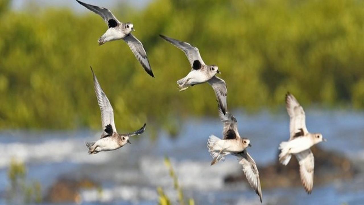
M10 186L7 189L7 202L8 204L39 204L42 201L41 185L38 181L31 184L27 182L27 170L22 162L17 162L15 159L11 160L8 178Z

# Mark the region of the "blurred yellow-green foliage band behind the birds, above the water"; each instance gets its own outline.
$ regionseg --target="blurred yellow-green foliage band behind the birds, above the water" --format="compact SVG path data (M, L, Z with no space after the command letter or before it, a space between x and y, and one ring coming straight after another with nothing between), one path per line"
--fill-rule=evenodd
M228 87L229 109L302 104L364 108L364 1L156 0L112 8L132 22L155 78L122 40L98 46L107 26L83 8L11 11L0 0L0 128L100 126L90 65L114 107L119 130L178 132L178 120L217 116L208 84L178 92L190 71L182 51L158 34L197 46ZM76 3L76 1L72 2ZM79 5L82 7L81 5Z

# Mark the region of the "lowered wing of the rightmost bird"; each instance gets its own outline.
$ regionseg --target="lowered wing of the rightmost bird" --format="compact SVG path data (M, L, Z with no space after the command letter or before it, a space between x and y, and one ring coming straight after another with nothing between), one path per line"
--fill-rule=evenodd
M296 154L298 163L300 164L300 175L303 187L308 194L312 192L313 187L313 169L314 157L310 149Z

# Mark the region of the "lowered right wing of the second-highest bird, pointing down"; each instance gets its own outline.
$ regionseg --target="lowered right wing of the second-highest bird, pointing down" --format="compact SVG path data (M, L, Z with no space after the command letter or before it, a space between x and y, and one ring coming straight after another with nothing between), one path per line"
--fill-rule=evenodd
M227 109L227 86L224 80L219 77L212 77L207 81L215 91L222 113L225 115Z

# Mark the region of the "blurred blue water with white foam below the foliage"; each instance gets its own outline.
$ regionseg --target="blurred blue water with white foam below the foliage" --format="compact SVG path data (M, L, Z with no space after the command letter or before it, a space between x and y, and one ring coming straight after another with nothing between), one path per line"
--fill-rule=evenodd
M240 134L250 139L249 153L258 169L276 160L278 144L289 138L289 118L285 112L271 115L262 112L246 115L235 112ZM353 180L337 179L329 184L314 185L311 195L303 187L263 189L262 204L364 204L364 113L351 111L306 111L309 131L321 132L326 150L337 150L359 167ZM12 157L26 163L28 179L41 183L43 194L59 177L88 177L100 182L97 190L83 190L82 204L157 204L156 187L161 186L173 199L177 193L164 165L164 156L171 158L186 197L196 204L260 204L258 196L245 182L225 184L228 174L241 173L233 156L210 166L206 142L209 135L221 136L222 124L214 119L191 119L182 126L178 138L171 139L161 131L156 141L146 134L132 144L111 152L88 155L85 141L96 140L100 133L24 132L0 133L0 193L9 186L7 167ZM298 170L297 170L298 171ZM0 194L3 196L3 194ZM5 204L0 199L0 205Z

